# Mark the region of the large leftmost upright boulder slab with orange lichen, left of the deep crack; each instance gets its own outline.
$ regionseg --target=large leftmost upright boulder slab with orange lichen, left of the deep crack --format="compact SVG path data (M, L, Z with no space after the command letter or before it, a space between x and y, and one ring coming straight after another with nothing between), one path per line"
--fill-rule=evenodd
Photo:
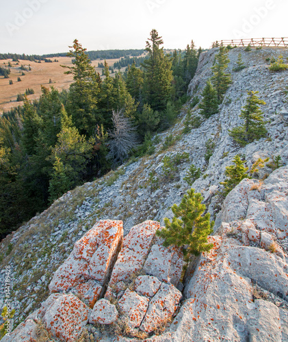
M55 272L49 284L50 292L65 292L74 288L84 295L92 289L93 283L99 295L99 287L109 278L122 246L122 235L122 221L105 220L95 224L91 231L75 243L73 252ZM99 284L88 282L90 278L98 280ZM86 285L80 286L82 283ZM86 299L89 305L95 302L98 295L94 298L91 293L88 295Z

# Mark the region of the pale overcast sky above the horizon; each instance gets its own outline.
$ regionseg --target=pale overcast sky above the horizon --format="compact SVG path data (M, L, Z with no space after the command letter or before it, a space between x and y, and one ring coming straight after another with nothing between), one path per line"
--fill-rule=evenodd
M2 0L0 53L144 49L156 29L165 49L191 40L288 37L287 0Z

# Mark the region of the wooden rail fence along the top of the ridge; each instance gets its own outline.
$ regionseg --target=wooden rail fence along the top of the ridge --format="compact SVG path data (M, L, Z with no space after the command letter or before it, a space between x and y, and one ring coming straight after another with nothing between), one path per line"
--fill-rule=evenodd
M232 40L216 40L212 47L288 47L288 38L249 38L249 39L232 39Z

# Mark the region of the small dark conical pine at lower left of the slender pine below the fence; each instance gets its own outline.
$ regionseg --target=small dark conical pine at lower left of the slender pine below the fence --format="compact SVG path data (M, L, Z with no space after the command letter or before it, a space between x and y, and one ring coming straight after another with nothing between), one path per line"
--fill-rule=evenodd
M200 114L205 118L210 118L213 114L218 113L218 96L216 90L213 88L210 79L202 92L202 101L198 105L201 109Z

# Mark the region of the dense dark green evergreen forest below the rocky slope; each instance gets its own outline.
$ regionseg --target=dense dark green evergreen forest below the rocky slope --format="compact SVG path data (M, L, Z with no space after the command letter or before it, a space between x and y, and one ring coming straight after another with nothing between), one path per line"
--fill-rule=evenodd
M3 114L1 237L69 189L151 150L153 134L167 129L187 101L198 64L193 41L172 55L164 53L162 44L153 29L141 68L134 61L125 74L112 78L105 61L101 79L75 40L67 54L73 66L64 69L74 79L69 91L42 86L38 101L25 98L23 107Z

